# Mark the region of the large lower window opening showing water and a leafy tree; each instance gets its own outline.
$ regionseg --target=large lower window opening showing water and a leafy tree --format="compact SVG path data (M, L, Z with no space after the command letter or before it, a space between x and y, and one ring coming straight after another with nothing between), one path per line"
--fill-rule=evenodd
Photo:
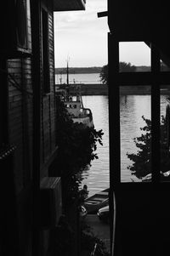
M150 86L121 87L120 116L121 181L140 182L150 174Z

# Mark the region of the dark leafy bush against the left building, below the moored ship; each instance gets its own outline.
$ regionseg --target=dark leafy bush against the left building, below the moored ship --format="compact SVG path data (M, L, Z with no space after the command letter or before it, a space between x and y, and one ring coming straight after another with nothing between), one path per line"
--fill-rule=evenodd
M56 99L56 144L59 146L57 164L64 186L65 202L77 197L81 179L77 174L91 161L98 158L97 144L102 145L102 130L84 128L82 123L72 122L64 103Z

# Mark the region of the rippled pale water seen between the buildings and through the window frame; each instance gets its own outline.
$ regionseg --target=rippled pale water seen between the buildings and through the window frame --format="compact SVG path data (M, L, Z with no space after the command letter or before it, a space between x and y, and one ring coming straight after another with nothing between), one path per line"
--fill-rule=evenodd
M82 77L82 80L79 79ZM72 79L72 78L71 78ZM74 79L82 83L99 83L99 74L75 74ZM161 95L161 115L165 116L166 95ZM94 117L96 130L102 129L103 145L97 145L98 159L91 162L82 171L82 186L88 185L89 196L109 187L109 110L107 95L82 96L84 107L90 108ZM120 95L120 124L121 124L121 181L131 182L133 175L127 168L132 162L127 153L136 153L137 147L133 139L141 135L145 122L142 118L150 119L150 95ZM135 180L138 181L138 180Z

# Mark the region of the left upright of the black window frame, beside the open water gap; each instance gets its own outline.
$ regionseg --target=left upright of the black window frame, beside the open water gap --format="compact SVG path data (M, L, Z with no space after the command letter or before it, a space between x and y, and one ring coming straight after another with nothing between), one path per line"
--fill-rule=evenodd
M111 187L121 181L120 162L120 95L119 95L119 43L111 33L109 48L109 131L110 131L110 180Z

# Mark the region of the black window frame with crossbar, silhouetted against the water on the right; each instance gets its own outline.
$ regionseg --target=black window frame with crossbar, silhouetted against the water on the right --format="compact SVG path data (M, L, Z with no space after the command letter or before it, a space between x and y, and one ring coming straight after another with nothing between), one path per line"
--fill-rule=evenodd
M170 84L170 72L161 72L160 53L150 44L150 72L119 72L119 43L139 40L119 41L118 37L108 34L109 50L109 112L110 112L110 187L119 184L133 185L133 182L121 182L121 135L120 135L120 86L149 85L151 87L151 184L161 183L160 153L160 86ZM148 41L148 40L147 40ZM115 146L116 145L116 146ZM139 185L139 183L138 183ZM143 183L142 183L143 185Z

